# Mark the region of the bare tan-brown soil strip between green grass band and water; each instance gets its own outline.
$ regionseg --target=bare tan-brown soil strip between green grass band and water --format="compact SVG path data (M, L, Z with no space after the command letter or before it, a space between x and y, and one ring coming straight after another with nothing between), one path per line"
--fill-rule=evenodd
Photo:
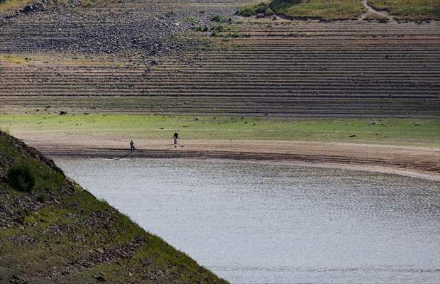
M440 149L407 146L384 146L354 143L292 141L172 141L136 140L130 153L119 137L87 138L37 136L20 137L51 158L228 158L236 160L272 160L314 164L361 165L367 170L400 169L440 178ZM72 142L74 141L74 142ZM382 170L381 170L382 171Z

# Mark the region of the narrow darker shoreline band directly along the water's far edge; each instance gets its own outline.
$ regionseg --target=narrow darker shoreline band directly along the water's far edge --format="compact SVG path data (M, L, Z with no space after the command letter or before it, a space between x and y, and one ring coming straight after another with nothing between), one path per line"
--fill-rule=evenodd
M343 155L311 155L292 153L255 153L245 151L190 151L180 149L137 150L130 153L126 148L46 148L38 150L50 158L179 158L191 160L227 160L236 163L270 163L273 165L297 165L317 168L339 168L374 173L402 175L440 182L439 168L424 165L423 161L412 164L382 158L358 158Z

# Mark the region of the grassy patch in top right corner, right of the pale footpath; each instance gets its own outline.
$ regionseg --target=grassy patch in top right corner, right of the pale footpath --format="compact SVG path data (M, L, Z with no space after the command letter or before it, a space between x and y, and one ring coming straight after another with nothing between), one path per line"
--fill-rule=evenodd
M387 10L400 19L440 20L439 0L368 0L368 4L378 10Z

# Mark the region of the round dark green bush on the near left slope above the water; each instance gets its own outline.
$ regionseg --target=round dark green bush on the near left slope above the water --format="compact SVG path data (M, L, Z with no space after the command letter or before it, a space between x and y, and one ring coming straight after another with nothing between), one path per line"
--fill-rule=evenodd
M22 192L31 192L35 185L35 177L31 168L24 163L11 165L6 173L6 178L13 188Z

